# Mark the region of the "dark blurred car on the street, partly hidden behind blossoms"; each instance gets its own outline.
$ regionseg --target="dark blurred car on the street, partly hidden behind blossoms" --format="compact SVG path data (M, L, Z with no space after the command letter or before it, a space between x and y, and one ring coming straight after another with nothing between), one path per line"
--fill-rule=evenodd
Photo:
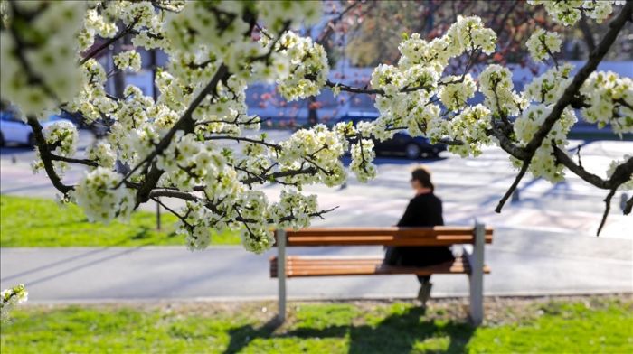
M371 121L377 119L375 114L347 114L342 116L338 122L352 122L354 126L361 121ZM337 123L338 123L337 122ZM439 153L446 150L445 144L430 144L429 139L423 136L411 136L407 133L396 133L389 140L379 142L373 141L376 154L391 154L406 156L409 159L420 157L437 157Z

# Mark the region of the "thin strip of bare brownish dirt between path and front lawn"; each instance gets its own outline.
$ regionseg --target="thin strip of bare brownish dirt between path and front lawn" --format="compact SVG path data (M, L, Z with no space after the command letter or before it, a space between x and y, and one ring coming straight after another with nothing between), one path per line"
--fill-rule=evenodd
M419 306L413 300L350 300L350 301L297 301L288 303L288 319L283 327L294 322L293 312L302 305L342 303L351 304L361 313L375 312L394 303L404 306ZM496 326L508 323L534 321L546 313L555 310L557 304L575 303L586 308L606 308L617 305L633 312L633 293L587 295L587 296L539 296L539 297L486 297L484 302L485 324ZM427 304L424 317L427 320L468 321L468 298L431 299ZM28 307L43 310L68 307L68 304L27 304ZM95 309L132 308L143 311L158 311L176 316L201 316L216 318L248 318L250 321L272 323L277 315L277 303L274 301L252 302L216 302L216 301L178 301L143 303L90 303L81 307ZM362 319L359 319L362 321Z

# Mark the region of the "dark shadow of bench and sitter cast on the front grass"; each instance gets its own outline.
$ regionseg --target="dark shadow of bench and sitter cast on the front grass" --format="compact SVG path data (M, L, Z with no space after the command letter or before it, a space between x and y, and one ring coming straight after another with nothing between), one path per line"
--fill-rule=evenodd
M468 340L475 329L466 322L432 321L423 319L423 308L411 308L402 314L392 314L371 326L335 325L325 328L298 327L289 331L275 333L279 329L276 319L266 322L259 328L251 325L241 326L229 331L231 341L225 354L237 353L248 347L252 340L296 338L341 338L349 336L349 353L408 353L416 342L434 341L430 351L436 353L463 353ZM448 346L439 342L448 341Z

